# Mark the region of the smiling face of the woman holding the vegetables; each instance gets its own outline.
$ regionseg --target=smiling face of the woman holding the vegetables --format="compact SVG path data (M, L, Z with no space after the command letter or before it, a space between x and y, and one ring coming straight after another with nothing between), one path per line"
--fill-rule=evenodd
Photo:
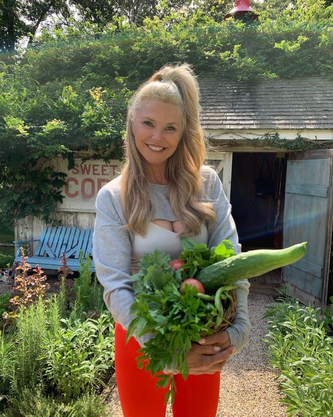
M134 115L132 132L149 169L165 173L167 160L177 148L182 129L182 117L174 104L157 100L142 102Z

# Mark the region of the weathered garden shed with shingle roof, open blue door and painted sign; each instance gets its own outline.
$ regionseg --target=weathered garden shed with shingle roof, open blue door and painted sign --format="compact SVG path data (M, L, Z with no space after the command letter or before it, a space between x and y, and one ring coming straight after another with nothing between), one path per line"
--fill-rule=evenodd
M333 81L239 82L214 73L201 74L198 81L202 126L214 146L209 163L231 202L243 251L307 241L302 260L275 271L276 281L272 275L267 279L273 286L288 282L302 302L323 306L333 223ZM311 150L312 143L321 149ZM294 151L304 145L308 150ZM121 164L82 163L81 156L87 154L78 155L70 171L61 158L53 161L67 173L65 198L55 217L64 226L93 228L97 192L117 176ZM21 219L15 239L38 239L44 226L30 216Z

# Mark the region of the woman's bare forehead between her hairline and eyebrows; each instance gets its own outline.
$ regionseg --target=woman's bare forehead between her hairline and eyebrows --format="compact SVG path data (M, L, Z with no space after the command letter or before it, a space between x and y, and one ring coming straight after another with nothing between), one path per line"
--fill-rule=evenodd
M136 111L139 118L151 118L152 120L180 123L182 121L179 108L172 103L158 100L143 100Z

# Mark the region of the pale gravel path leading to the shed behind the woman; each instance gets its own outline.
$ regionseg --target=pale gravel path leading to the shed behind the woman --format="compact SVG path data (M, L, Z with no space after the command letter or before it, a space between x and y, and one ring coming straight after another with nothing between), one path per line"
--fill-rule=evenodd
M249 343L241 352L229 359L221 371L220 399L216 417L285 417L286 406L282 398L277 373L270 369L268 344L263 342L267 334L267 319L262 316L265 306L273 304L270 296L249 294L249 318L252 329ZM108 400L109 416L123 417L117 387ZM147 417L154 417L153 414ZM171 404L166 417L172 417ZM202 416L205 417L205 416Z

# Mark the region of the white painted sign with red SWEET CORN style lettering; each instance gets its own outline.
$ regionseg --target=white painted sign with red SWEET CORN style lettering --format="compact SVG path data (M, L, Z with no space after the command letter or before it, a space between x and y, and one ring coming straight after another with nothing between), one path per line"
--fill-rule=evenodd
M68 171L68 160L60 160L58 169L67 173L66 185L62 188L65 198L59 204L59 211L95 211L95 200L98 191L107 182L119 175L122 163L117 160L89 160L84 163L74 159L74 168Z

